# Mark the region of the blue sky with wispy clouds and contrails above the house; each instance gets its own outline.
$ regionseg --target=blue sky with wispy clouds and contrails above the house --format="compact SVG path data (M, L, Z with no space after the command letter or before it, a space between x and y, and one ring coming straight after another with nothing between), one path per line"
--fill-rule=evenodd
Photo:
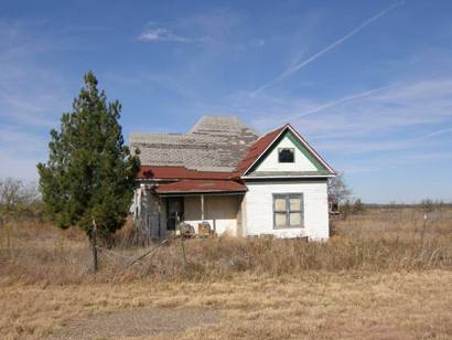
M452 201L451 1L1 1L0 177L92 70L130 131L290 121L366 202Z

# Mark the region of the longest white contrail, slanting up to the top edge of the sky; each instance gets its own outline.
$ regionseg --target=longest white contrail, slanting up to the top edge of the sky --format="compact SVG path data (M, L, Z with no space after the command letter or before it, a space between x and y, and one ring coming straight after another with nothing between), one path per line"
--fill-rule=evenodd
M394 3L392 6L388 7L387 9L384 9L383 11L378 12L377 14L375 14L374 17L367 19L366 21L364 21L363 23L360 23L358 26L356 26L354 30L352 30L351 32L348 32L347 34L345 34L344 36L337 39L335 42L333 42L331 45L326 46L325 49L321 50L320 52L315 53L314 55L310 56L309 59L306 59L305 61L301 62L298 65L292 66L291 68L286 70L283 73L281 73L278 77L276 77L275 79L268 82L267 84L262 85L261 87L257 88L255 92L252 92L250 94L251 97L256 96L258 93L260 93L261 91L266 89L267 87L282 81L283 78L292 75L293 73L300 71L301 68L303 68L304 66L309 65L310 63L312 63L313 61L315 61L318 57L322 56L323 54L325 54L326 52L330 52L331 50L337 47L338 45L341 45L342 43L344 43L345 41L347 41L348 39L351 39L352 36L354 36L355 34L359 33L362 30L364 30L366 26L368 26L370 23L373 23L374 21L377 21L378 19L380 19L381 17L386 15L388 12L390 12L391 10L394 10L395 8L403 4L403 0L402 1L398 1L396 3Z

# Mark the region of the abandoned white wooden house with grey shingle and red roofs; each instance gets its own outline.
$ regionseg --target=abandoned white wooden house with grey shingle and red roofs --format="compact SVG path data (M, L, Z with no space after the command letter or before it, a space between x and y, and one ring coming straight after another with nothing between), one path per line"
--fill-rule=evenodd
M329 237L334 170L284 125L262 137L235 117L204 116L186 134L131 134L140 187L133 214L152 237L181 221L236 236Z

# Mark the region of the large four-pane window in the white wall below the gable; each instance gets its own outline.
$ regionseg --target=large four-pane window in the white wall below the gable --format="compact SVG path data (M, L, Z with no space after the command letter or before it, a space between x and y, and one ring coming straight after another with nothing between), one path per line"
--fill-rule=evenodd
M302 193L273 194L273 229L304 227Z

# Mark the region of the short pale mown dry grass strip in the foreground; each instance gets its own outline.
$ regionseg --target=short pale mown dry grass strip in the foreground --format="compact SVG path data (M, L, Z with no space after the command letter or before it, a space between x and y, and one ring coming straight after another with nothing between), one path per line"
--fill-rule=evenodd
M452 337L451 281L451 272L428 270L365 277L243 274L230 280L177 284L146 279L115 285L14 285L0 290L0 330L11 339L37 338L60 333L71 320L96 314L202 308L219 312L219 322L187 329L180 338L446 339Z

